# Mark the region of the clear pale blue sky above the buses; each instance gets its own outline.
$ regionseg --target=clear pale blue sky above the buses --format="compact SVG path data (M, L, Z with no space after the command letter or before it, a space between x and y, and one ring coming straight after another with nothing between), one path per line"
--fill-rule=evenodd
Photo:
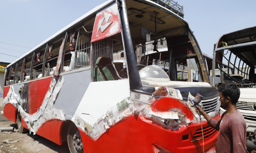
M223 34L256 26L255 0L175 1L184 6L184 19L202 52L211 56L213 44ZM1 0L0 53L12 56L0 54L0 62L15 61L103 2L105 0Z

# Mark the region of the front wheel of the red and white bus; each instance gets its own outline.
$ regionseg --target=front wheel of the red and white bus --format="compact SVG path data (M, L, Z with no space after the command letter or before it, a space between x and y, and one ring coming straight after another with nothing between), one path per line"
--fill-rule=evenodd
M74 124L69 126L68 145L71 153L84 152L82 137Z

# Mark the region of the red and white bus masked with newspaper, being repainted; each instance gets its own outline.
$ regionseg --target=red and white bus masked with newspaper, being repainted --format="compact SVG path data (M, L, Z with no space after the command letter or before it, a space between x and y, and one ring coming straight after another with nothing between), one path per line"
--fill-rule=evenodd
M203 95L205 112L217 119L218 92L188 23L162 3L109 0L12 62L4 116L21 133L68 141L71 153L202 152L191 99ZM143 56L146 41L163 37L168 74ZM125 66L113 63L121 50ZM202 82L178 80L177 63L192 60ZM202 124L204 149L214 149L218 131Z

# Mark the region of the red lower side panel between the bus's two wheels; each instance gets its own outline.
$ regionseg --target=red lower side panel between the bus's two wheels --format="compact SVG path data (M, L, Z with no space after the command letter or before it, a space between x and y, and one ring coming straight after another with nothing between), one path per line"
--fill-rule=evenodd
M61 131L64 121L61 120L49 120L44 123L36 134L51 140L58 145L62 145Z

